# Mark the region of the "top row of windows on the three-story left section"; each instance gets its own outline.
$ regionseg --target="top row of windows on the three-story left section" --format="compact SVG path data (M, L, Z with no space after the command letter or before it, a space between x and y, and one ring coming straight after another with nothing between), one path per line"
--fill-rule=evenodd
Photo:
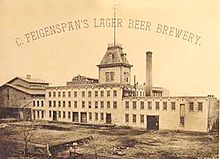
M72 92L68 91L67 92L68 96L67 97L72 97ZM62 95L62 96L61 96ZM66 97L66 92L48 92L49 97ZM94 97L104 97L105 96L105 91L94 91ZM111 96L111 91L108 90L106 91L106 96L110 97ZM74 91L73 92L73 97L78 97L78 92ZM92 91L82 91L81 92L81 97L92 97ZM113 97L117 97L117 91L113 90Z

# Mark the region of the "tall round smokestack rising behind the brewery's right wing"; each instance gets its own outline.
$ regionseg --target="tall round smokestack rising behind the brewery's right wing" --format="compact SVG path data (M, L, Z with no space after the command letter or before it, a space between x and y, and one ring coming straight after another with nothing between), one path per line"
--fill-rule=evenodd
M146 84L145 84L145 95L152 95L152 52L146 52Z

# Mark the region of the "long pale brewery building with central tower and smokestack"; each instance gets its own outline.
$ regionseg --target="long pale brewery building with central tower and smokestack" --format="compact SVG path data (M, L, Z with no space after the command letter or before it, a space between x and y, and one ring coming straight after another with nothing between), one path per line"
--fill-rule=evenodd
M146 53L142 86L131 84L132 65L119 44L108 46L97 67L98 79L79 75L66 86L47 87L45 105L34 100L33 119L202 132L217 119L212 95L170 97L166 89L152 87L152 52Z

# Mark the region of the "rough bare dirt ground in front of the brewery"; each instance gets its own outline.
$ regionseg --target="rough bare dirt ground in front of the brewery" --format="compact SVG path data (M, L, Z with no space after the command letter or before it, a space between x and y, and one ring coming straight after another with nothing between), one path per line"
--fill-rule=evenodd
M36 124L36 123L35 123ZM9 123L0 129L0 141L4 139L22 141L21 122ZM218 158L219 133L147 131L127 127L92 127L64 123L38 123L37 130L30 139L32 143L49 144L51 146L91 137L89 142L77 146L79 154L95 153L112 158ZM0 156L6 154L2 148L7 146L16 150L9 142L1 142ZM57 153L57 158L67 158L68 150ZM95 158L95 156L93 156ZM90 158L93 158L90 156ZM84 157L86 158L86 157ZM100 158L100 157L99 157Z

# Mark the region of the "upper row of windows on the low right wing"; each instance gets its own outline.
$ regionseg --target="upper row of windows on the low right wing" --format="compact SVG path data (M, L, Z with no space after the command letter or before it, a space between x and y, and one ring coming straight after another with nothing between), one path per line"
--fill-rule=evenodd
M149 101L147 102L147 109L148 110L152 110L152 105L153 102ZM167 110L168 109L168 102L162 102L162 107L163 110ZM129 109L130 108L130 102L129 101L125 101L125 109ZM137 101L133 101L132 102L132 109L137 109ZM144 101L140 101L140 109L145 109L145 102ZM155 110L160 110L160 102L155 102ZM176 110L176 102L171 102L171 110ZM189 102L189 110L193 111L194 110L194 102ZM202 111L203 110L203 103L202 102L198 102L198 111Z

